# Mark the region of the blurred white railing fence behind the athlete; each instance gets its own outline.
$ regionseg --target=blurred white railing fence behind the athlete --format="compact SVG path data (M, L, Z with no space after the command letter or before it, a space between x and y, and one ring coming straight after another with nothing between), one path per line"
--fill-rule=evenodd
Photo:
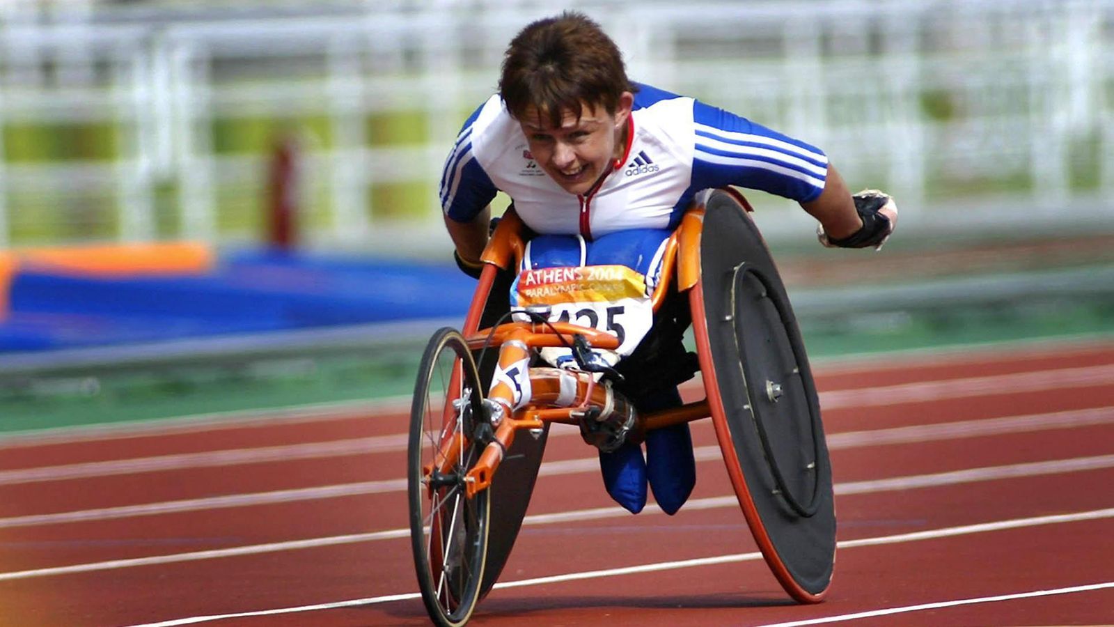
M0 4L0 128L109 124L120 154L0 160L0 247L29 243L12 241L14 223L45 213L78 222L68 240L81 220L120 240L257 237L266 155L216 154L214 122L312 116L332 137L307 138L313 241L443 249L448 146L494 90L507 41L556 9L310 4L174 20L89 0ZM903 229L1114 228L1112 0L565 6L604 25L635 79L818 144L851 185L892 191ZM370 136L369 115L407 110L421 142ZM371 201L398 183L428 189L405 220ZM89 199L107 214L82 210ZM768 233L809 231L802 212L769 204Z

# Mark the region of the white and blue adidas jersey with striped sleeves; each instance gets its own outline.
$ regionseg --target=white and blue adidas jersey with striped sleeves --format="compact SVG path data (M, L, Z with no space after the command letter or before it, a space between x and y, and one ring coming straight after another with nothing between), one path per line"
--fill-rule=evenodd
M623 165L587 197L534 161L521 127L491 96L465 123L441 177L441 205L472 220L502 191L537 233L588 241L629 229L673 229L701 190L736 185L799 202L823 190L819 148L693 98L641 85Z

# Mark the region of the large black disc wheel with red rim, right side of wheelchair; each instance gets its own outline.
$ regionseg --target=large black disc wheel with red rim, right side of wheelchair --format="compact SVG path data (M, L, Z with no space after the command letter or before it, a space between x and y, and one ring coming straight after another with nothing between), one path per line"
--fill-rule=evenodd
M740 503L744 513L744 500L753 504L756 520L747 522L756 539L769 538L772 551L763 552L780 580L779 570L788 573L786 591L820 600L834 563L836 513L815 385L778 269L725 192L705 206L697 289L731 433L724 455L737 457L745 482Z

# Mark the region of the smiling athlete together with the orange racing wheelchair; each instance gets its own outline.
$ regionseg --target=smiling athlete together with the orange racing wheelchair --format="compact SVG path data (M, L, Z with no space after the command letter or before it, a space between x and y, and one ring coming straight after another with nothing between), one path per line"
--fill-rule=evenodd
M465 122L441 179L455 254L481 272L463 335L431 339L412 406L411 536L436 621L467 621L494 585L550 422L580 425L599 446L605 484L628 510L648 485L675 511L695 473L686 423L711 416L778 579L798 600L823 597L834 515L815 390L742 202L700 192L729 185L798 201L825 245L880 244L896 218L883 195L852 199L819 148L631 81L583 13L537 20L510 42L499 93ZM541 239L505 219L488 242L499 191ZM593 243L545 239L575 233ZM694 356L681 341L690 321ZM696 364L706 398L674 407ZM648 459L635 443L644 433Z

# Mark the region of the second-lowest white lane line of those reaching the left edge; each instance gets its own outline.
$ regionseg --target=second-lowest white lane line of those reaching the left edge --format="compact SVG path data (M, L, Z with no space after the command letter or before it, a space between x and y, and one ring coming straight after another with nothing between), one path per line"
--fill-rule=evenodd
M1077 409L1072 412L1055 412L1051 414L1030 414L1024 416L1007 416L1003 418L989 418L983 421L961 421L955 423L942 423L937 425L920 425L911 427L882 428L874 431L858 431L837 433L828 436L828 447L830 450L853 448L860 446L876 446L885 444L897 444L906 442L931 442L937 440L951 440L959 437L975 437L983 435L1000 435L1006 433L1033 432L1051 428L1069 428L1078 426L1091 426L1114 422L1114 407L1101 407L1096 409ZM697 446L693 450L698 462L715 461L722 454L719 446ZM1103 456L1084 457L1081 463L1102 464ZM1089 461L1086 461L1089 460ZM1098 460L1096 462L1096 460ZM1049 464L1065 464L1068 461L1046 462ZM1024 465L1024 464L1023 464ZM566 460L560 462L545 462L541 464L538 474L541 476L558 476L575 474L580 472L596 472L599 462L596 459ZM1093 466L1103 467L1103 466ZM958 471L960 473L968 471ZM880 480L902 481L897 480ZM10 527L32 527L42 524L55 524L63 522L82 522L92 520L113 520L120 518L154 515L176 512L202 511L221 508L237 508L251 505L264 505L275 503L291 503L297 501L312 501L320 499L333 499L343 496L354 496L363 494L381 494L389 492L402 492L407 489L404 479L393 479L383 481L367 481L356 483L341 483L334 485L322 485L315 488L302 488L291 490L275 490L270 492L254 492L246 494L228 494L223 496L208 496L202 499L186 499L179 501L166 501L160 503L144 503L137 505L120 505L115 508L97 508L90 510L77 510L70 512L57 512L47 514L29 514L22 517L0 518L0 529ZM839 486L837 485L837 490ZM692 504L687 504L691 508Z

